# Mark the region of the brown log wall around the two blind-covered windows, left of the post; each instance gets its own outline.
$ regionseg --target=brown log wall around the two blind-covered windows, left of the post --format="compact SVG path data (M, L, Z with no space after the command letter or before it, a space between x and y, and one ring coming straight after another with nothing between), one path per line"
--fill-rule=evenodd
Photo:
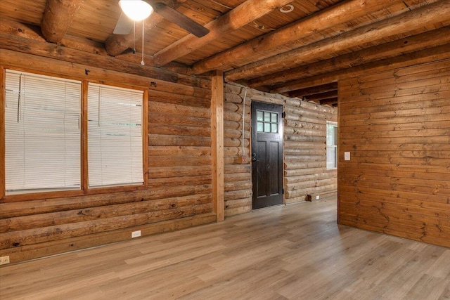
M81 60L81 58L80 58ZM210 81L141 77L0 49L0 65L149 89L148 188L0 203L0 256L11 263L216 220ZM89 72L86 70L89 69Z

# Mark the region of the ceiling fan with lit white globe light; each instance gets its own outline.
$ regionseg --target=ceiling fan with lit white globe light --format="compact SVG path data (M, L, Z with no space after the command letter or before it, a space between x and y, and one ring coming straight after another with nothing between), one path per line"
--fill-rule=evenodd
M129 34L133 28L134 21L148 18L153 13L160 14L166 20L179 25L196 37L205 36L210 30L198 24L186 15L176 11L176 9L167 6L162 2L149 0L120 0L119 5L122 8L122 14L114 29L114 34ZM137 13L138 16L133 15Z

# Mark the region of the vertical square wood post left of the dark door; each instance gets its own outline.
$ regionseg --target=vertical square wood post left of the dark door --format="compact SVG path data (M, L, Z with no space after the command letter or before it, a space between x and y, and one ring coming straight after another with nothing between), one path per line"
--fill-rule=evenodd
M217 222L224 221L224 72L212 76L211 155L212 205Z

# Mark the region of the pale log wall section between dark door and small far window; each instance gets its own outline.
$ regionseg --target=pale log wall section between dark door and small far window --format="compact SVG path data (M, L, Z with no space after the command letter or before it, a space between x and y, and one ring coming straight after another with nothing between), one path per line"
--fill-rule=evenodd
M338 171L326 169L326 122L338 122L338 110L297 98L285 100L285 202L336 195Z

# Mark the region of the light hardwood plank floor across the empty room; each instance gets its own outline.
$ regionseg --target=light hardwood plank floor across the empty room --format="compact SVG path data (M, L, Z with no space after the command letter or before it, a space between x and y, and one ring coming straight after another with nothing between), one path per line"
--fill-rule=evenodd
M0 299L450 299L450 249L336 224L336 200L0 268Z

